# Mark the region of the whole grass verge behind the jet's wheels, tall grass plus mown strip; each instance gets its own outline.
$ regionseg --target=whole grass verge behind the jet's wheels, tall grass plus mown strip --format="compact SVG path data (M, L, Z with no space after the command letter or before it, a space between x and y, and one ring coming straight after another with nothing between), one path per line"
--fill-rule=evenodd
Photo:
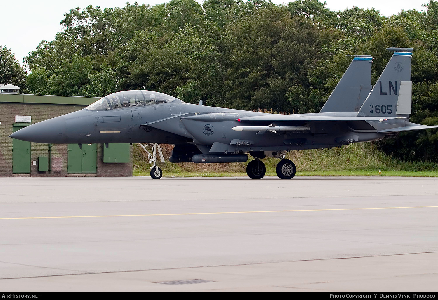
M149 147L150 148L150 147ZM163 176L247 176L243 163L171 163L167 160L172 145L161 145L165 162L158 163ZM152 152L152 151L150 151ZM297 166L297 176L438 176L436 162L401 162L378 150L373 143L359 143L342 148L291 151L286 155ZM146 152L134 144L134 176L150 176ZM276 176L279 159L265 158L266 176ZM378 171L381 170L381 175Z

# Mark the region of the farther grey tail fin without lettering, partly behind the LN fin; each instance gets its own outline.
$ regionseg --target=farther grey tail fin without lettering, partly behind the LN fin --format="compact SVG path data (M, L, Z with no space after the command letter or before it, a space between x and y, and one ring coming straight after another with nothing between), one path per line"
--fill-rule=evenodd
M320 113L357 113L371 91L373 57L357 55L330 94Z

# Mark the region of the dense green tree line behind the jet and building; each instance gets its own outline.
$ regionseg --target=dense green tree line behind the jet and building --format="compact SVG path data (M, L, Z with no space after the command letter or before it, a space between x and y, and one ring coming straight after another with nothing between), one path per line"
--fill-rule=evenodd
M411 121L438 124L438 1L389 18L375 9L330 11L317 0L135 2L75 7L60 24L56 39L24 58L30 74L0 48L1 70L9 70L0 80L30 94L148 89L209 106L314 113L350 64L346 54L374 56L374 84L392 55L385 49L411 47ZM381 149L438 161L436 131L401 135Z

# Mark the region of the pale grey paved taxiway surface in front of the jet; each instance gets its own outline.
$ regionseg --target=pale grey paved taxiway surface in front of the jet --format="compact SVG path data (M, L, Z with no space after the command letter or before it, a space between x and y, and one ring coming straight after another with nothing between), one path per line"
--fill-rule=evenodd
M433 177L0 178L0 206L2 292L438 290Z

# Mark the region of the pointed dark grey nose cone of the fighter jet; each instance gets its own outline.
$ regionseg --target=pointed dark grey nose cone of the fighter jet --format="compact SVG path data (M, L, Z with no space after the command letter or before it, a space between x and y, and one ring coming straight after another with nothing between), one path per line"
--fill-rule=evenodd
M21 128L9 137L34 143L65 144L67 142L67 123L64 116L57 116Z

